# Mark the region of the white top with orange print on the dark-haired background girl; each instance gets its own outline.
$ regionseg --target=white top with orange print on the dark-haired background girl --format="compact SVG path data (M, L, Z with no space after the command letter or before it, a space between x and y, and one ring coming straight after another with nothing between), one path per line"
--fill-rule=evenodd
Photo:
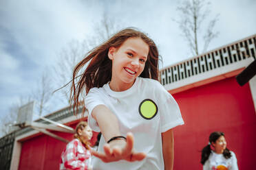
M209 159L204 163L203 170L218 169L238 170L237 158L233 151L231 151L231 158L228 159L226 159L223 154L216 154L214 151L211 151Z

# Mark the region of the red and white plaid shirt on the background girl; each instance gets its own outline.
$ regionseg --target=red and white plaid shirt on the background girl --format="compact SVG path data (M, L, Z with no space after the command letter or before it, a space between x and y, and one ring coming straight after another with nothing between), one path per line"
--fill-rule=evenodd
M61 154L60 169L83 169L87 170L91 157L89 150L85 149L81 141L74 138Z

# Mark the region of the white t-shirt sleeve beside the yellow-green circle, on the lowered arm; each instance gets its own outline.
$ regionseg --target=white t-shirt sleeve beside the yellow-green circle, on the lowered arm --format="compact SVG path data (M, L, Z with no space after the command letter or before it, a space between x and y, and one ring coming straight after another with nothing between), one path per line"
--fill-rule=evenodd
M160 111L161 132L163 133L173 127L183 125L184 121L180 114L180 108L173 96L159 82L156 90L159 99L158 109Z

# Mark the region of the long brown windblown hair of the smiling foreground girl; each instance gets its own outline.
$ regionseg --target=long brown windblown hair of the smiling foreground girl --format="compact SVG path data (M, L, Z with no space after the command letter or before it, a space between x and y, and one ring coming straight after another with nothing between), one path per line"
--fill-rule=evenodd
M149 45L149 54L147 62L145 63L145 69L140 74L140 77L151 78L158 80L158 60L160 56L158 54L158 48L155 42L151 40L146 34L138 31L134 28L122 29L120 32L114 34L109 40L103 42L103 44L92 49L87 53L87 56L79 62L73 72L72 88L70 94L70 101L73 105L74 114L78 112L78 105L81 93L85 90L86 95L91 88L100 88L111 80L111 67L112 62L108 58L108 51L110 47L120 47L128 38L141 38ZM80 75L78 72L83 69L85 64L88 64L85 71ZM76 82L76 78L78 78ZM75 112L75 108L77 108Z

